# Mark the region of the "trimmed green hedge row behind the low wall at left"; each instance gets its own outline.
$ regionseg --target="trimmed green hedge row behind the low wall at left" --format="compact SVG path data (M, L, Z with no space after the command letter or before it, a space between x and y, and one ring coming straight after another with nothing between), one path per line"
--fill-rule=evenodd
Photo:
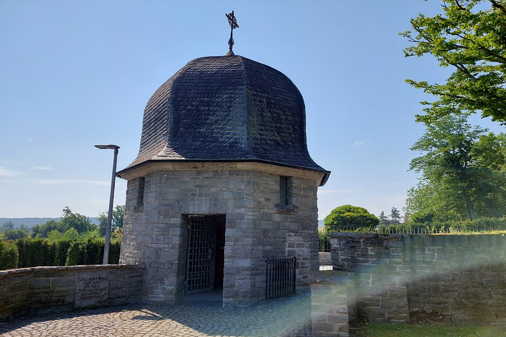
M38 266L102 264L104 238L49 242L47 238L20 238L0 241L0 270ZM109 249L109 264L119 262L121 242L114 240Z

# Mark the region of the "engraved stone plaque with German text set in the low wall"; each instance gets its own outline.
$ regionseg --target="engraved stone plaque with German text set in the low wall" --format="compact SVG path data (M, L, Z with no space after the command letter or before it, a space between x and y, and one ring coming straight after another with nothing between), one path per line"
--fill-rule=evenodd
M109 299L109 271L77 273L75 308L107 305Z

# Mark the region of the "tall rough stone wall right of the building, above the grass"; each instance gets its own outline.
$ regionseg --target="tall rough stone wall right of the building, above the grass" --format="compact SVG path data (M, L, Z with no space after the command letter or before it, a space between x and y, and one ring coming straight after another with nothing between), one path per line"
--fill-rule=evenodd
M358 316L506 322L506 237L333 233L335 269L356 274Z

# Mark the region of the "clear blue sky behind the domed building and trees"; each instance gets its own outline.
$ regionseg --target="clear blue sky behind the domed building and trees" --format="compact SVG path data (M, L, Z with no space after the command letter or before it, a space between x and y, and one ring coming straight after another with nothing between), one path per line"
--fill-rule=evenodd
M398 33L440 1L0 0L0 217L106 210L113 152L94 145L120 146L118 170L129 165L151 94L188 61L227 53L232 10L234 52L283 72L305 99L309 152L332 171L319 219L344 204L400 210L424 132L414 115L431 100L404 80L452 70L404 58ZM115 204L125 188L117 179Z

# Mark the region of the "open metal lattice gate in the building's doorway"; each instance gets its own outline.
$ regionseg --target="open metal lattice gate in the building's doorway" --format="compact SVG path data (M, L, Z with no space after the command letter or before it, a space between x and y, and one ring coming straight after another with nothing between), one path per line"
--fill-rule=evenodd
M215 287L216 217L190 216L185 295Z

